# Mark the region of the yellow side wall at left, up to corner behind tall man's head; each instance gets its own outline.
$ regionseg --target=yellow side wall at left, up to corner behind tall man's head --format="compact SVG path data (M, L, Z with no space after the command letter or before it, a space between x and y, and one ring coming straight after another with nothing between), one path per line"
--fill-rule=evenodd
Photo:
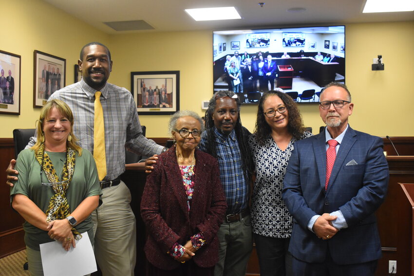
M0 50L21 56L20 115L0 114L0 137L13 137L13 129L33 129L39 108L33 108L33 52L66 59L66 85L74 82L74 65L83 45L110 44L109 35L41 0L0 0ZM111 45L108 45L109 47ZM7 73L5 74L7 75Z

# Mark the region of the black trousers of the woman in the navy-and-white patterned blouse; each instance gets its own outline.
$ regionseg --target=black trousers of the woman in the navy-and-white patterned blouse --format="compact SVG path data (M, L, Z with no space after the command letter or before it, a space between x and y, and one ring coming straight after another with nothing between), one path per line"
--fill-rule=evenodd
M290 238L280 239L253 234L259 257L260 276L292 276Z

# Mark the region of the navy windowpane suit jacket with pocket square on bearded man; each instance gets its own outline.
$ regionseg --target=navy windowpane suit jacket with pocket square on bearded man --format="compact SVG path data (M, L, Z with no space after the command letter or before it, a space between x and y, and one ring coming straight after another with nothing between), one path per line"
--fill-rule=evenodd
M337 264L381 257L375 211L385 199L389 179L382 146L379 137L349 127L325 191L325 132L295 143L282 190L294 218L289 251L295 258L323 262L328 250ZM340 229L331 239L319 239L307 228L314 215L338 210L348 228Z

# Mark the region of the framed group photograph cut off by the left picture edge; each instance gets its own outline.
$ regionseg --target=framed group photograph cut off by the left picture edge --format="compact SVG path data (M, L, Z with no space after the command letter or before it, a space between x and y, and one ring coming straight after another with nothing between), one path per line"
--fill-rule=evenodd
M0 50L0 113L20 114L21 56Z

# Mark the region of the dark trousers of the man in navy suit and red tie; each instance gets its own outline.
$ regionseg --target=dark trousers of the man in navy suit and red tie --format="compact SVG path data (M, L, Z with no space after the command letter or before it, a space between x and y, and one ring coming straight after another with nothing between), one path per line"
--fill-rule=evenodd
M322 263L309 263L293 258L294 276L374 276L378 260L355 264L336 264L327 254Z

